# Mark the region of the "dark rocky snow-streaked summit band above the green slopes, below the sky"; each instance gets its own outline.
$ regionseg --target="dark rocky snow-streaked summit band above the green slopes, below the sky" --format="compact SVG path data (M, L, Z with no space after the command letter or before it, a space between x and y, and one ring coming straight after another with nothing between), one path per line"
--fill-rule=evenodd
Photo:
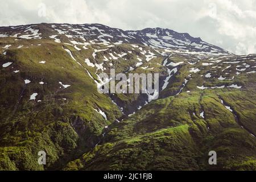
M15 36L20 39L55 39L59 37L65 43L80 44L86 41L97 43L133 43L154 48L166 48L179 51L195 51L209 55L229 55L228 51L212 44L193 38L189 34L180 34L163 28L145 28L139 31L123 31L102 24L31 24L10 26L0 29L2 36ZM54 38L53 38L54 37ZM67 40L68 39L68 40Z

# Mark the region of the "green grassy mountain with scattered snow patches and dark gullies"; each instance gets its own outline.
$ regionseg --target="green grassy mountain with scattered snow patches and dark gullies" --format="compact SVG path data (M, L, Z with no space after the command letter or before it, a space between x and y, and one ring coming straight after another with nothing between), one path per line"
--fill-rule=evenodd
M256 55L163 28L47 23L0 27L0 53L2 170L256 169ZM158 99L98 92L110 69L159 73Z

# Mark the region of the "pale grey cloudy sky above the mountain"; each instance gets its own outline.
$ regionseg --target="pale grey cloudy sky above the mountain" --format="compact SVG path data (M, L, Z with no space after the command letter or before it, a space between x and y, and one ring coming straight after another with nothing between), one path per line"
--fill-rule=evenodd
M256 53L256 0L0 0L0 26L101 23L188 32L238 55Z

